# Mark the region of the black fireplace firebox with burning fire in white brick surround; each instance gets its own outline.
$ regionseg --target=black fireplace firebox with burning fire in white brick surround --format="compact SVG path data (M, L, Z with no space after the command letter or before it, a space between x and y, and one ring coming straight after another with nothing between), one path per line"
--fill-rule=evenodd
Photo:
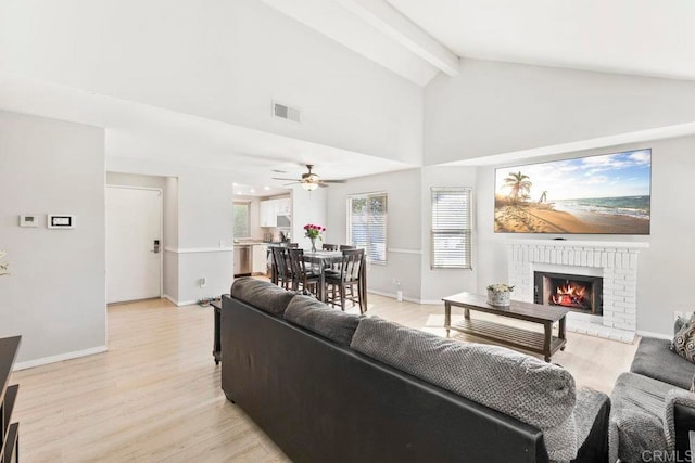
M603 278L551 272L533 272L533 276L535 304L603 314Z

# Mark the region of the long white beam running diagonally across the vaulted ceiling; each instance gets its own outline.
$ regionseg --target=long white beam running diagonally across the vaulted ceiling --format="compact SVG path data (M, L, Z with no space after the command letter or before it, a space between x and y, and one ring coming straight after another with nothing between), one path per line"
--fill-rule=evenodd
M383 0L336 0L372 27L450 76L458 74L458 56Z

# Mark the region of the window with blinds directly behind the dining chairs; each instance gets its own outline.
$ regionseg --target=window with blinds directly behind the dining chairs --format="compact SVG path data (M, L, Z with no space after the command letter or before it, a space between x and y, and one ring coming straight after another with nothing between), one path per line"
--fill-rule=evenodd
M387 262L387 193L348 196L348 242L374 263Z

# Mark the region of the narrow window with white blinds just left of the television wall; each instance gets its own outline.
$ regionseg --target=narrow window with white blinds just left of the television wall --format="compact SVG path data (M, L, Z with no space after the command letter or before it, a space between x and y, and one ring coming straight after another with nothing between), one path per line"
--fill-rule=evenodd
M430 268L472 269L469 188L432 188Z

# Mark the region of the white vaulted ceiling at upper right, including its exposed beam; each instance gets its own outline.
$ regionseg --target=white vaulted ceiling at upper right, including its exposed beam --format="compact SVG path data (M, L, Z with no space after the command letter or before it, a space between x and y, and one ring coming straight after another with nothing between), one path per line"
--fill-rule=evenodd
M690 0L263 0L418 85L466 57L695 79Z

